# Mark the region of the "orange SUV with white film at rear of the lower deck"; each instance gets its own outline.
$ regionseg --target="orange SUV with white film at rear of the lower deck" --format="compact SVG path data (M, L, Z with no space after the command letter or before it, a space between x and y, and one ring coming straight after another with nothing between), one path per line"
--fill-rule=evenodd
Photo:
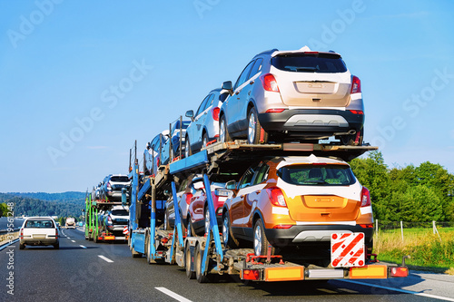
M233 193L222 210L226 246L238 247L243 240L256 255L266 255L271 245L271 253L279 248L281 253L322 257L332 233L362 232L371 254L370 192L345 161L273 157L252 164L239 182L227 182L226 189Z

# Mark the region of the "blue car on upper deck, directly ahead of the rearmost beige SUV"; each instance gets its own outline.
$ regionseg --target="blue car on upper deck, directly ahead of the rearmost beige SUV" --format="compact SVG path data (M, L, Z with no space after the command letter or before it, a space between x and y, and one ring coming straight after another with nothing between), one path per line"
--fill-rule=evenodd
M197 112L192 110L186 112L186 117L191 123L186 129L185 156L196 153L206 147L210 141L216 141L219 137L219 110L222 105L220 101L221 88L213 89L203 99ZM224 93L223 96L226 96Z

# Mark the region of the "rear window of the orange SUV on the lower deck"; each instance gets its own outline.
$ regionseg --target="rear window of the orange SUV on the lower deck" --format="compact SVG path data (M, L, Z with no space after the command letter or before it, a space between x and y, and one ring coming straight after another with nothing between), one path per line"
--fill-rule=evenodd
M299 186L348 186L356 182L349 166L344 165L291 165L278 170L278 176L287 183Z

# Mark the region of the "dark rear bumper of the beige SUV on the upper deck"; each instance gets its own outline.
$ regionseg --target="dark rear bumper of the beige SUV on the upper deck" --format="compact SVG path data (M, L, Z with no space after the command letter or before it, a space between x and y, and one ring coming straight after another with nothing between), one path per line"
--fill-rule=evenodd
M294 109L259 113L259 122L266 132L289 132L290 135L322 132L333 135L350 130L359 132L364 124L364 114L343 110Z

